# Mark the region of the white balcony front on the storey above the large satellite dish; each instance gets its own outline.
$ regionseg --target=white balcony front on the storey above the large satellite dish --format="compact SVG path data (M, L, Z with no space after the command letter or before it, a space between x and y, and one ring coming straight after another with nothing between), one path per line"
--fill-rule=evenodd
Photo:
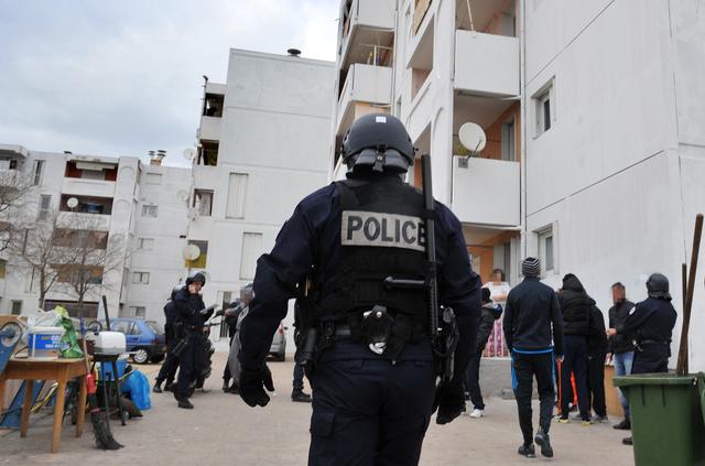
M518 96L519 39L456 31L454 86L476 96Z

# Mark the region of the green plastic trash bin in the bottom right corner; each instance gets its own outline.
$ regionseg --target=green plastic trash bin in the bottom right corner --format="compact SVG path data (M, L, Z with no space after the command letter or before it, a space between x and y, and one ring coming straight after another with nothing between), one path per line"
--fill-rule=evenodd
M637 466L705 465L705 373L615 377L631 411Z

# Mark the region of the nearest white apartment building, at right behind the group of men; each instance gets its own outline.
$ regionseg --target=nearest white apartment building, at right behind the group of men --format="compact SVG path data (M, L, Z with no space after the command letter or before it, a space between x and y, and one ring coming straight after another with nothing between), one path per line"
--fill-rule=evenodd
M521 258L539 256L545 283L576 273L606 312L614 282L639 301L661 271L681 311L681 263L705 210L698 4L344 0L332 176L355 118L391 112L431 154L434 194L463 223L484 280L501 268L517 284ZM458 142L465 122L487 134L479 155ZM690 356L705 368L702 338Z

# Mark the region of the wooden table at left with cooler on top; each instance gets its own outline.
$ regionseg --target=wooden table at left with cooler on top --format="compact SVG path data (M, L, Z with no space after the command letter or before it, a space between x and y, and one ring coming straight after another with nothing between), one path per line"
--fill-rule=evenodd
M32 382L34 380L56 380L56 402L54 403L54 429L52 435L52 453L58 452L62 438L62 420L64 418L64 402L66 399L66 382L80 378L78 390L78 407L76 421L76 436L84 433L86 414L86 380L88 373L83 359L10 359L4 372L0 373L0 400L3 399L6 380L24 380L24 403L22 404L22 426L20 436L25 437L30 426L30 410L32 409Z

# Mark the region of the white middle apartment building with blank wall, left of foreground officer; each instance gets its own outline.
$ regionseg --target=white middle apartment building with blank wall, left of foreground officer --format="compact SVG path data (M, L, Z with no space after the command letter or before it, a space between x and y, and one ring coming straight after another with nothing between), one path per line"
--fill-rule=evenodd
M206 271L206 304L238 297L299 201L327 183L334 64L292 53L230 50L226 84L205 83L187 265Z

